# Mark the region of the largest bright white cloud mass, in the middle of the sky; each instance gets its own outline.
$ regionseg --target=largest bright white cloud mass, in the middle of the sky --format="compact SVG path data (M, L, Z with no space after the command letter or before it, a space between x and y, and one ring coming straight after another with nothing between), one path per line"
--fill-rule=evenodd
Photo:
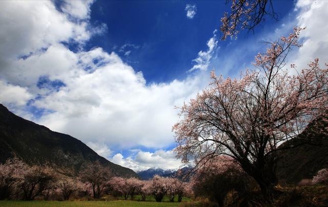
M80 55L73 59L79 60ZM62 79L66 86L35 101L37 107L56 111L36 121L84 142L97 140L124 149L169 146L172 125L178 119L174 105L182 105L197 93L200 78L146 85L142 73L136 73L115 53L100 51L98 55L106 57L101 61L104 65L92 73L78 64L68 67L69 79ZM92 65L92 59L84 64Z

